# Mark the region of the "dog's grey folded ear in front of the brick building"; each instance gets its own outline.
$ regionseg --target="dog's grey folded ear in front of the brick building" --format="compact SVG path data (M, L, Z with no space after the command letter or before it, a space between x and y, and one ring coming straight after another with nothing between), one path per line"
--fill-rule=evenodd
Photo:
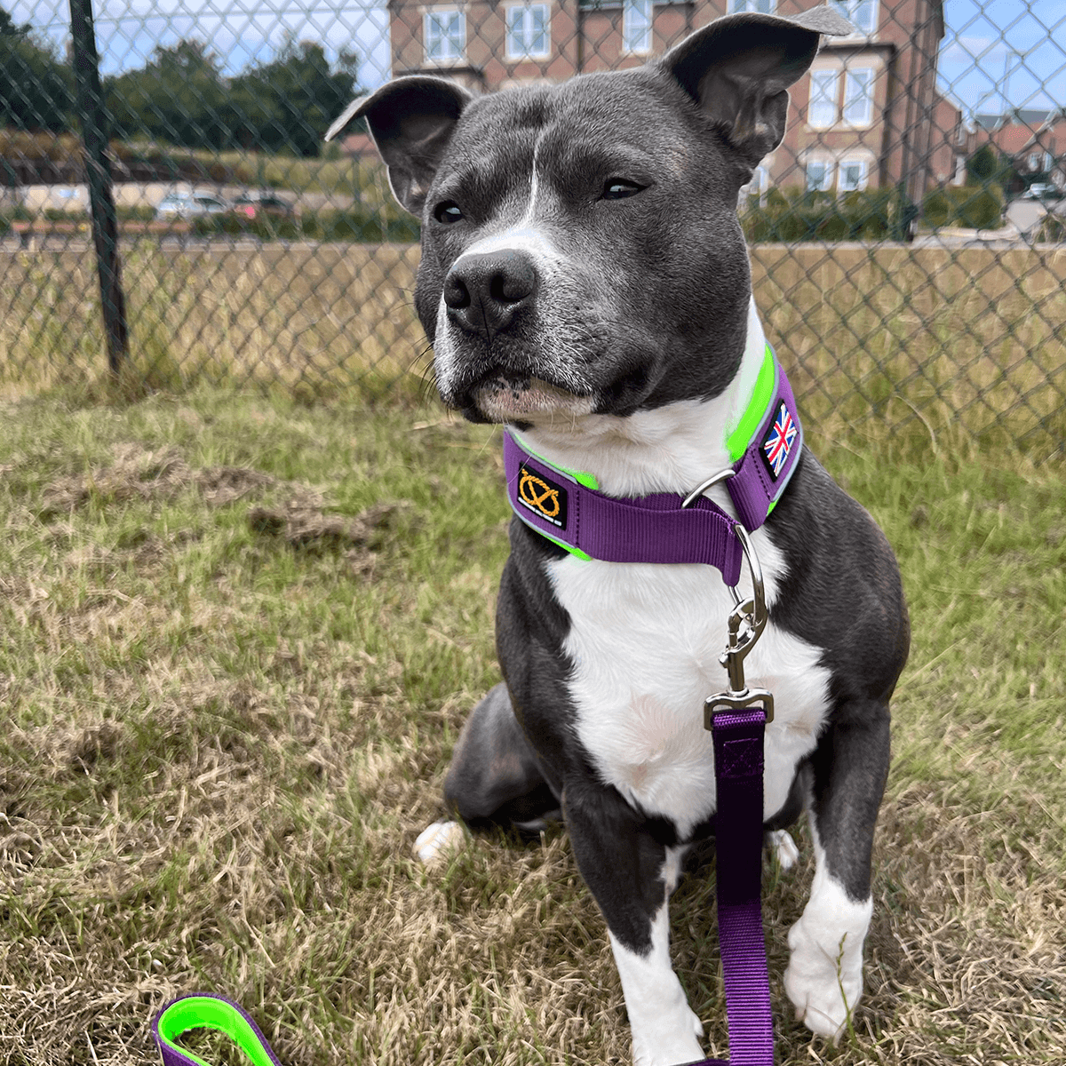
M790 18L726 15L672 48L657 65L680 82L752 169L781 143L786 90L810 66L820 35L854 32L828 5Z

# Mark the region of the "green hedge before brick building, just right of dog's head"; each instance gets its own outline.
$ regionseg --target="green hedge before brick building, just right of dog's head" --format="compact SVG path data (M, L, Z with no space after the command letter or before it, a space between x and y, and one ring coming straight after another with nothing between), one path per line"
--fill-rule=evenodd
M892 190L831 193L772 189L764 204L749 198L741 224L749 241L876 241L889 236Z

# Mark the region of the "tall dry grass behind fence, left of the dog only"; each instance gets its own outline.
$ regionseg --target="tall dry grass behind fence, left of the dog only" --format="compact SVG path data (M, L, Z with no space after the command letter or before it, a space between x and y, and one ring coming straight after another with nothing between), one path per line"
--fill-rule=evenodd
M0 394L67 391L107 366L95 264L86 253L0 254ZM417 389L421 326L408 245L160 246L123 271L130 351L149 387L278 385L298 395ZM406 379L406 381L403 381Z

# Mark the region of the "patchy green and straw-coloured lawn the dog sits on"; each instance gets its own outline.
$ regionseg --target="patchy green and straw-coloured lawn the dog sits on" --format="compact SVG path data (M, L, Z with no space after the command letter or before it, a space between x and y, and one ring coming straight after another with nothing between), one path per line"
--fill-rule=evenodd
M491 431L209 391L2 415L0 1062L150 1062L196 989L289 1066L627 1062L564 833L410 858L498 676ZM768 871L779 1061L1061 1064L1062 471L826 457L897 547L915 644L839 1048L780 986L809 842ZM676 897L675 957L721 1052L706 891Z

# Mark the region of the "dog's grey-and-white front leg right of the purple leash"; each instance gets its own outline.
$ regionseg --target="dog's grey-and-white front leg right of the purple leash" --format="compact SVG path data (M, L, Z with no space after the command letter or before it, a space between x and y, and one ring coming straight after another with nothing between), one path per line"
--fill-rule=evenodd
M785 989L809 1030L836 1039L862 995L862 942L873 914L870 858L888 776L888 707L837 709L811 757L814 881L789 931Z

